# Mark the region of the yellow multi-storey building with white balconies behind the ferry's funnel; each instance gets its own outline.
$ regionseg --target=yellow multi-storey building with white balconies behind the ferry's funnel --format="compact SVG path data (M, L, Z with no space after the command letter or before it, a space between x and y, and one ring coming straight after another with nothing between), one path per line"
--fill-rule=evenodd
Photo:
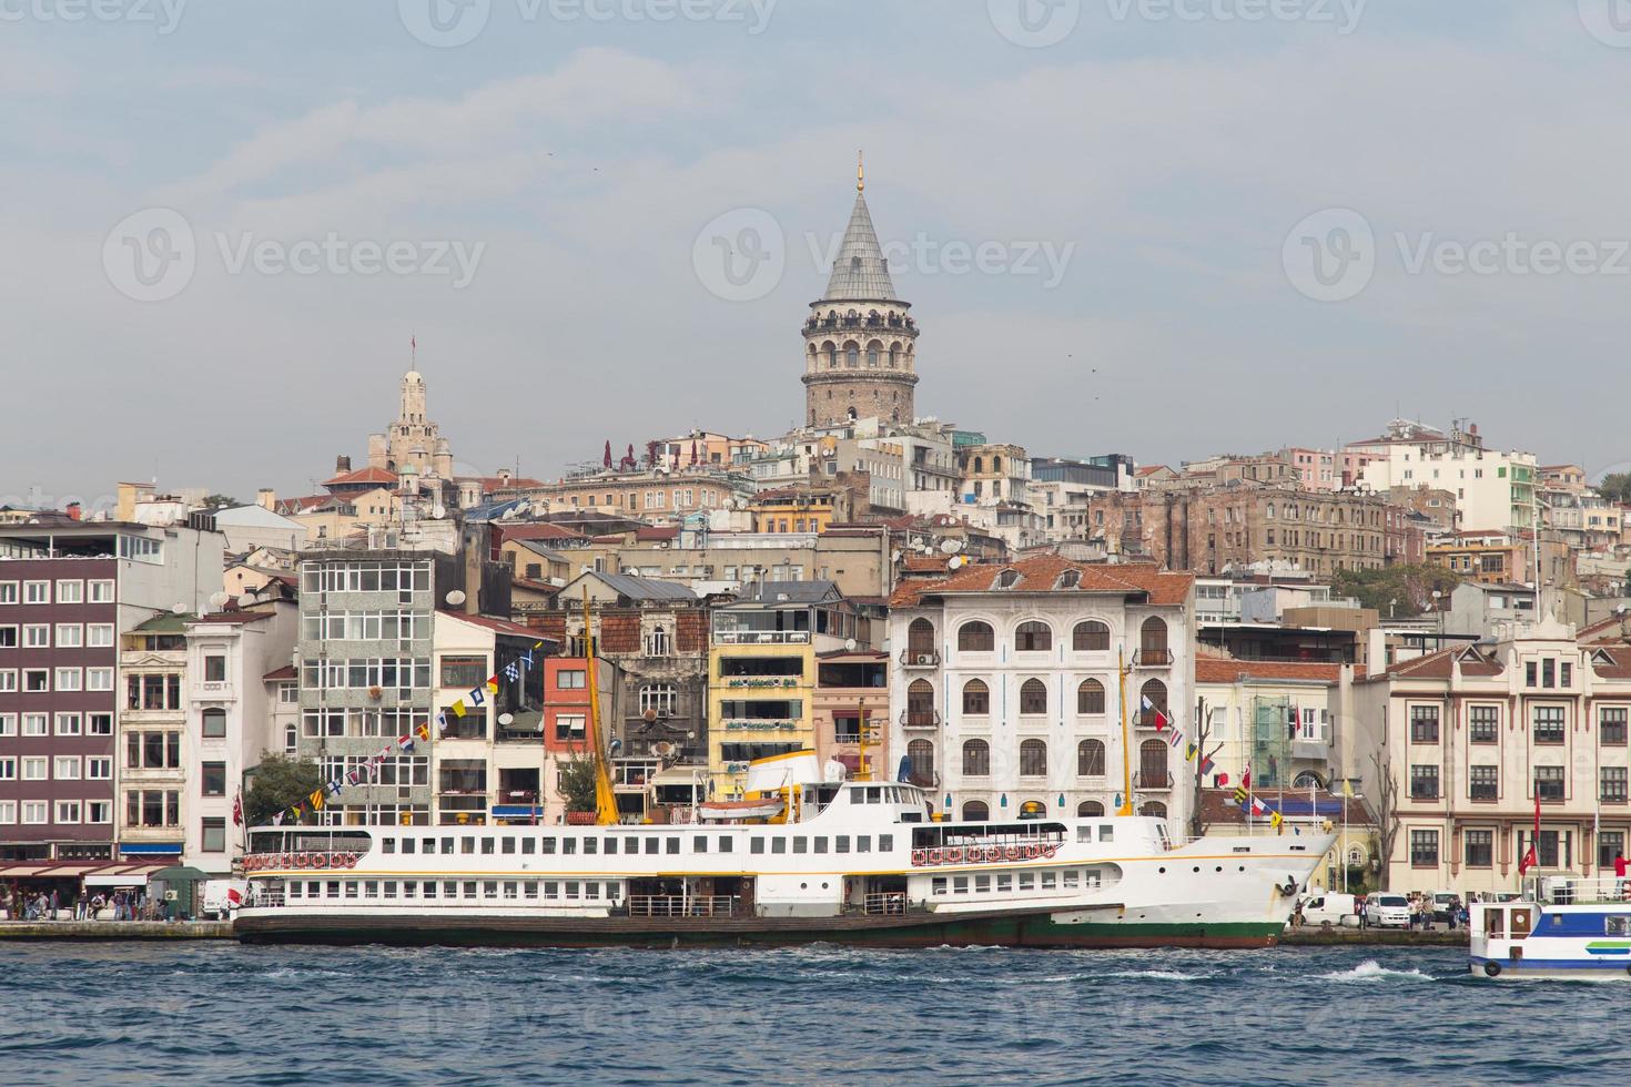
M869 642L868 624L832 582L760 582L716 608L708 650L708 774L737 797L747 764L814 751L820 652Z

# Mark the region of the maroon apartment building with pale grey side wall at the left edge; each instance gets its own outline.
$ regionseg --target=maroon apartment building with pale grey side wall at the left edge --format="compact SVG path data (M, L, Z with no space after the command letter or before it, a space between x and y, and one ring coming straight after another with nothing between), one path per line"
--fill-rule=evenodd
M117 859L119 634L202 611L222 549L179 525L0 525L0 859Z

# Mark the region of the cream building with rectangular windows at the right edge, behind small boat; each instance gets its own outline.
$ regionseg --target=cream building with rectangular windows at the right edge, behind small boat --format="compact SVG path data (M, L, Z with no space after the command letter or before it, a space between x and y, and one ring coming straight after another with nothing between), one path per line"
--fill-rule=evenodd
M1355 704L1398 797L1393 890L1515 890L1530 844L1541 870L1595 877L1626 849L1631 644L1616 619L1512 623L1360 681Z

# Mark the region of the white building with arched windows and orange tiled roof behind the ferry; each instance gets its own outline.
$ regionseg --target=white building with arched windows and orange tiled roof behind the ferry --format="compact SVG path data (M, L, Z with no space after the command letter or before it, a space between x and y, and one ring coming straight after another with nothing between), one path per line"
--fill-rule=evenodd
M1194 763L1140 699L1187 732L1194 579L1037 556L907 582L891 600L889 750L953 816L1189 816ZM1127 727L1117 660L1125 662Z

